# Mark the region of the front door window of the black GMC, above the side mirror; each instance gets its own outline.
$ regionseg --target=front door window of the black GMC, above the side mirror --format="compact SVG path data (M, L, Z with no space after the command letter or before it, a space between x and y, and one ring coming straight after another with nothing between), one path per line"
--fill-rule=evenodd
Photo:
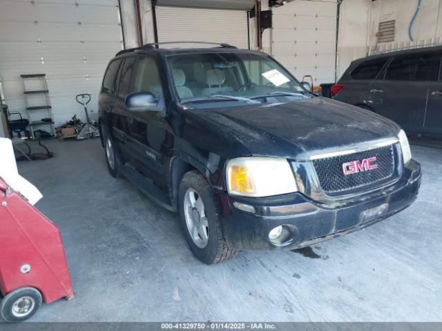
M140 58L134 92L151 92L157 99L160 99L162 92L160 73L157 63L151 57Z

